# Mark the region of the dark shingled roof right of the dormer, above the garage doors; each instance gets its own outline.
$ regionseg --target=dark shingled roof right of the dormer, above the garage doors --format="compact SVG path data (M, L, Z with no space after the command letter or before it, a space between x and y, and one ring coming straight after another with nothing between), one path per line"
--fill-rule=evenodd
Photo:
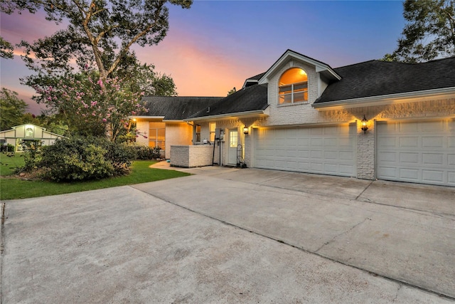
M366 61L333 69L331 83L314 103L455 87L455 57L426 63Z

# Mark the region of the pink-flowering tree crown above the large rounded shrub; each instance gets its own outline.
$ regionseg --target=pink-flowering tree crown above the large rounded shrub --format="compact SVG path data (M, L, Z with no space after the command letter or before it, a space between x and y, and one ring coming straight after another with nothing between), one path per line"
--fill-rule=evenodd
M122 88L119 78L95 79L90 75L65 75L54 85L35 85L38 103L67 122L75 135L107 136L115 141L129 132L129 116L146 112L143 93Z

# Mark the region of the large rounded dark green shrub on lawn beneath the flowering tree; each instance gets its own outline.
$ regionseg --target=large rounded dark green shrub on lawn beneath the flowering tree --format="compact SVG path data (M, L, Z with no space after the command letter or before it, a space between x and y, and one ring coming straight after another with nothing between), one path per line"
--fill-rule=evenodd
M73 137L43 147L40 167L56 181L103 179L129 172L134 152L105 138Z

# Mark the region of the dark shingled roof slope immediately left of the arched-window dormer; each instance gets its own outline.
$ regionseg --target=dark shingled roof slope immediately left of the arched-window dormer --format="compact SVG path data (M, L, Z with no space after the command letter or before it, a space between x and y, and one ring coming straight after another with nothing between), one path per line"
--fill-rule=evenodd
M210 112L205 108L188 118L265 110L267 106L267 85L252 85L210 105Z

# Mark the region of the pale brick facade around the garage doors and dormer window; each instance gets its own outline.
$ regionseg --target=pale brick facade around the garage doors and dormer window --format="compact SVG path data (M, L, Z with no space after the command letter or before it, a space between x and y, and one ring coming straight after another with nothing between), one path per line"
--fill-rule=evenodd
M278 83L279 78L289 68L302 68L309 78L309 103L294 105L278 104ZM283 65L276 73L270 75L268 82L268 103L269 116L257 118L237 118L232 120L218 120L217 127L226 130L237 127L242 136L244 148L245 164L254 167L253 140L251 127L314 127L317 125L337 125L350 122L357 123L357 152L355 166L359 179L375 179L375 122L385 120L410 120L410 119L438 119L455 116L455 98L448 99L429 99L414 101L406 100L388 101L389 104L375 106L360 106L357 108L335 108L335 109L315 109L311 105L319 97L319 88L325 88L326 83L319 80L319 73L316 73L314 66L306 65L296 61L289 61ZM360 130L360 121L363 115L367 117L369 126L364 134ZM202 122L203 136L208 136L208 122ZM246 125L250 127L250 134L243 135L242 128ZM227 144L225 144L227 145ZM223 152L223 159L227 157L227 152Z

